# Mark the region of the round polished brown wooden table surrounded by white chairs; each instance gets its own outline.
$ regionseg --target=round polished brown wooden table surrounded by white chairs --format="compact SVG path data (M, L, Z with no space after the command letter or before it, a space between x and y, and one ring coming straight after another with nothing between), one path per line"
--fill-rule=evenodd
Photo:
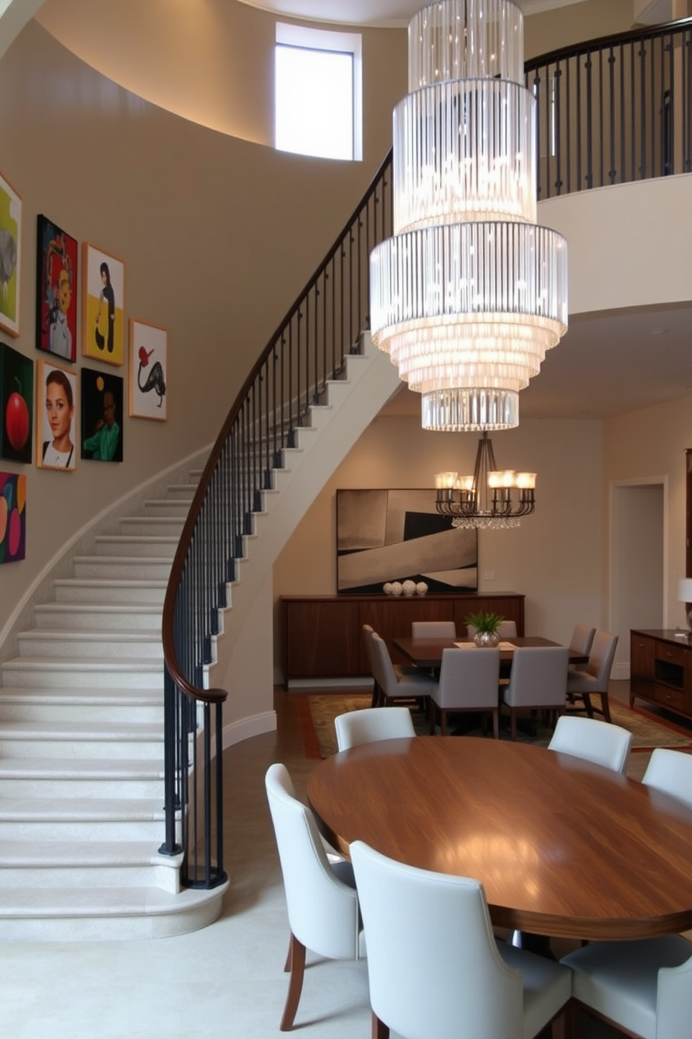
M493 924L627 939L692 928L692 811L571 754L471 737L384 740L308 777L324 836L483 884Z

